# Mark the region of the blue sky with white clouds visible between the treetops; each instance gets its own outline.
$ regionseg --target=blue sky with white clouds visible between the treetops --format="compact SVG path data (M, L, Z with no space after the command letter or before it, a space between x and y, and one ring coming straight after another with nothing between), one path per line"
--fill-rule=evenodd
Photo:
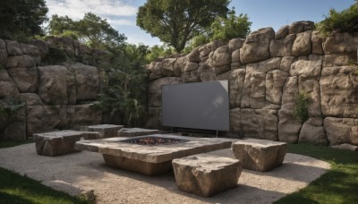
M138 7L146 0L47 0L48 16L57 13L79 20L84 13L95 13L107 19L113 28L133 44L153 46L160 44L136 26ZM251 31L272 27L278 30L294 21L322 21L330 8L342 11L354 4L354 0L232 0L236 14L246 13L252 22Z

